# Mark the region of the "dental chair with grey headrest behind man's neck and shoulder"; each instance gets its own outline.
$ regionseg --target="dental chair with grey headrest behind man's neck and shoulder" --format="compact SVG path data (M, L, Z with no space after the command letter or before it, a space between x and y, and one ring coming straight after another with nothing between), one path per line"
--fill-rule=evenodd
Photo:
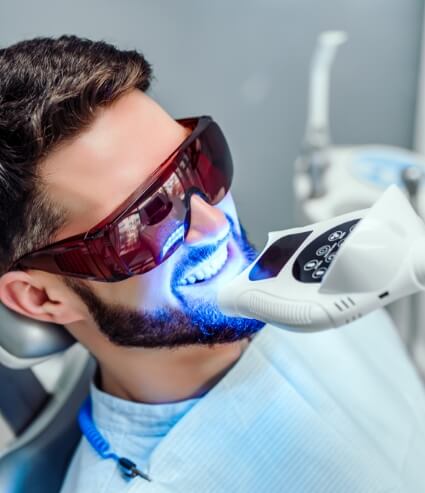
M16 435L0 451L1 493L60 491L81 436L76 417L94 368L62 326L0 303L0 413Z

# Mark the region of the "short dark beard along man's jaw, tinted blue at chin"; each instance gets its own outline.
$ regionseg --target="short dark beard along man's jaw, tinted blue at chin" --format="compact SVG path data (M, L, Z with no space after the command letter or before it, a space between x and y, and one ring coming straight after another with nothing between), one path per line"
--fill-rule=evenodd
M251 263L257 252L241 227L239 235L228 217L233 237ZM65 284L86 304L100 331L115 345L143 348L175 348L194 344L230 343L252 336L264 327L258 320L228 317L212 301L184 301L184 311L161 308L148 312L118 304L106 304L84 282L64 277Z

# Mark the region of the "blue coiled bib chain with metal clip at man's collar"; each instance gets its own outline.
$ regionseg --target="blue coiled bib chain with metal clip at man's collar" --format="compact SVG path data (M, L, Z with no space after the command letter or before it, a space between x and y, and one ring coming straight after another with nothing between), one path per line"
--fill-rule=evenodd
M149 476L141 472L137 465L126 457L118 457L114 452L109 452L110 445L107 440L100 434L96 425L93 422L91 413L91 399L90 396L84 401L78 413L78 424L83 435L87 438L90 445L96 450L96 452L103 459L114 459L121 472L126 478L135 478L140 476L147 481L151 481Z

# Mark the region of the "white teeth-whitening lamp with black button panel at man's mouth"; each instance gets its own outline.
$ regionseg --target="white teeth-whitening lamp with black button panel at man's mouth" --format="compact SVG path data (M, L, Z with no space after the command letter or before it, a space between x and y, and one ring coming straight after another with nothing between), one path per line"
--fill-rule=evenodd
M370 209L269 233L218 304L230 316L316 331L423 289L425 225L393 185Z

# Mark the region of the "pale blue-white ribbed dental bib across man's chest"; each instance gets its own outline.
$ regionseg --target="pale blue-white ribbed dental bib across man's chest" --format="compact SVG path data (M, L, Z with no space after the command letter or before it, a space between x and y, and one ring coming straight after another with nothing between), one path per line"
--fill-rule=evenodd
M315 334L266 326L153 451L151 482L118 480L83 440L62 493L420 493L424 464L425 393L378 311Z

